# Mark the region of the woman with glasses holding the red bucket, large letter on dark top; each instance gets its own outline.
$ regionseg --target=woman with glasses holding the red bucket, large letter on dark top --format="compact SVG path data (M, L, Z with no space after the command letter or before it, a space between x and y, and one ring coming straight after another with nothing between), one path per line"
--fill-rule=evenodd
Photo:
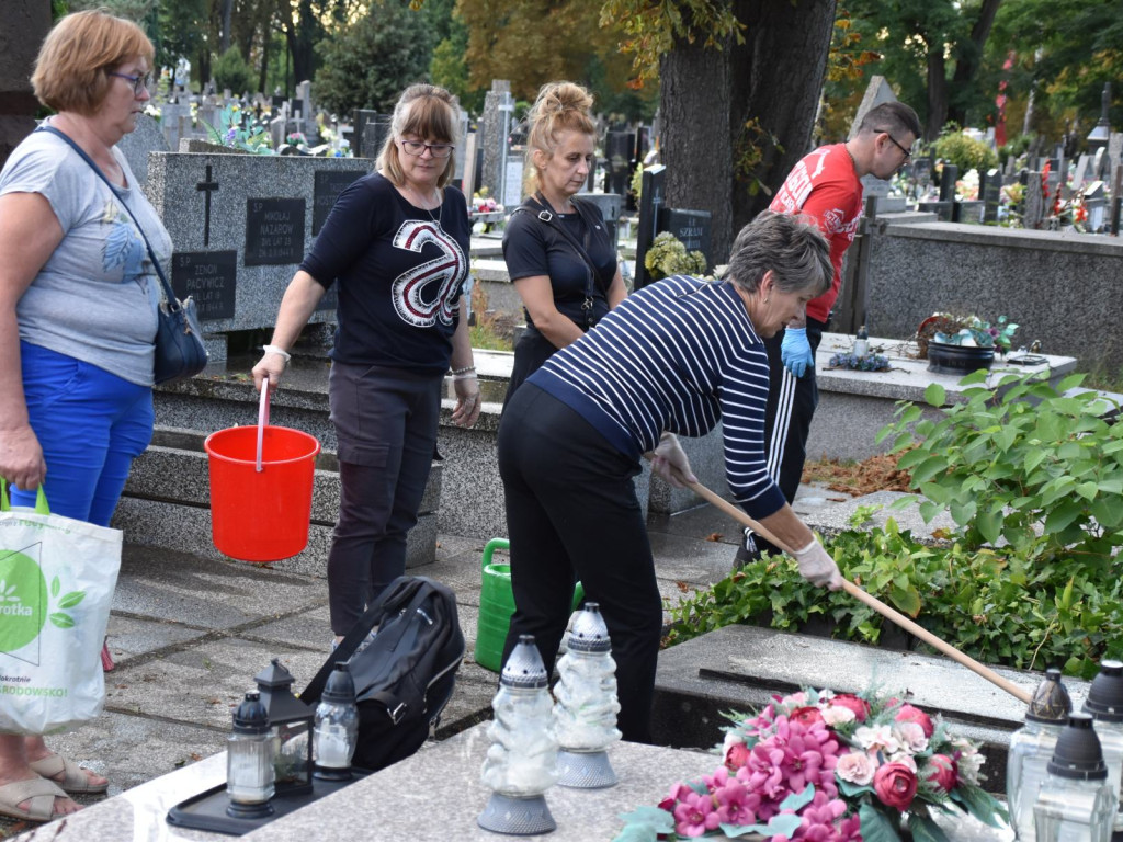
M468 221L456 168L455 101L429 84L394 108L378 170L336 201L285 291L254 382L275 388L290 349L338 281L339 327L328 395L340 500L328 555L331 629L345 635L405 570L405 537L437 445L441 385L451 368L453 422L480 415L466 302Z

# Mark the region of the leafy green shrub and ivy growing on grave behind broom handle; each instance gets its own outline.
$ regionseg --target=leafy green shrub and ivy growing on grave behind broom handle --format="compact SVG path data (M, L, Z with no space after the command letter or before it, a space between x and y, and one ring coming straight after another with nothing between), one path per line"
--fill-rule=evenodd
M902 403L879 440L907 449L897 467L923 494L924 519L947 511L956 530L939 546L892 519L842 532L828 546L842 574L984 662L1090 678L1103 658L1123 657L1123 424L1103 421L1094 393L1063 394L1083 376L987 386L976 373L950 406L933 384L925 401L941 408L939 421ZM730 623L800 630L823 620L836 638L877 642L888 622L804 583L785 557L733 573L672 619L668 643Z

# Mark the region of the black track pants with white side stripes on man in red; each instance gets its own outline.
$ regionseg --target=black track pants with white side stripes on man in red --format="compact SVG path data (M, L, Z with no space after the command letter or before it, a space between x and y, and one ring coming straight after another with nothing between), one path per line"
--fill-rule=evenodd
M823 322L807 318L807 342L812 354L819 350L825 328ZM802 377L796 377L784 367L784 360L780 359L783 341L783 330L770 339L765 339L765 348L768 350L765 452L768 457L768 475L776 481L784 498L791 503L800 491L803 464L807 459L807 436L811 432L811 419L819 405L819 384L815 382L814 365ZM780 551L759 536L756 542L761 552Z

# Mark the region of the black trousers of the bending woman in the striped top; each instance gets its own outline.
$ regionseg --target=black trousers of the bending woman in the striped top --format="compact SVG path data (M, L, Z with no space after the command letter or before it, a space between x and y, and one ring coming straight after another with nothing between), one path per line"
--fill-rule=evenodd
M532 383L511 396L499 429L511 540L514 616L503 661L533 634L547 672L581 579L612 639L623 739L650 742L663 600L632 478L639 465Z

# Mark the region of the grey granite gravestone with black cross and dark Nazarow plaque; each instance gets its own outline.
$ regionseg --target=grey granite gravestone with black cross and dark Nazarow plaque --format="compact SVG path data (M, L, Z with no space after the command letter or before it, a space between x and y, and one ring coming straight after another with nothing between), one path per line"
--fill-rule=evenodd
M363 158L150 156L145 193L174 244L173 285L200 301L214 361L225 359L225 332L273 326L329 196L369 168ZM310 321L334 322L335 302L329 290Z

